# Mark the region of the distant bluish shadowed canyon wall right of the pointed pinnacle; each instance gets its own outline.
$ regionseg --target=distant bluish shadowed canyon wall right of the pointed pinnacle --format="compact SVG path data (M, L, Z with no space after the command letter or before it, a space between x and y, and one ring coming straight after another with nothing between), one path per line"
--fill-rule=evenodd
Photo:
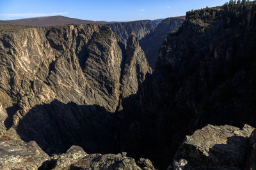
M157 52L168 34L176 32L181 27L184 19L166 18L162 20L156 29L144 38L140 39L140 45L148 60L150 67L154 69L157 61Z

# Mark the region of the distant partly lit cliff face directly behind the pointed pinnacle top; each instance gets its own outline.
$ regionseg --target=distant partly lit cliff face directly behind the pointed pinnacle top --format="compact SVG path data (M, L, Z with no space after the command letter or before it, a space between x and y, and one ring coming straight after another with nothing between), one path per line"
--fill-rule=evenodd
M116 22L107 25L111 27L112 31L116 34L116 36L118 36L121 41L124 42L125 46L131 32L134 32L140 40L150 32L154 31L154 29L156 29L156 24L151 20Z

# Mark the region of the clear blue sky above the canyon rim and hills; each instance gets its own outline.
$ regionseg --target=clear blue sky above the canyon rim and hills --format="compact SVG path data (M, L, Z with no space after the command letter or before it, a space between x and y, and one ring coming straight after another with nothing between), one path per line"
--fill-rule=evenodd
M0 20L63 15L84 20L129 21L177 17L228 0L0 0Z

